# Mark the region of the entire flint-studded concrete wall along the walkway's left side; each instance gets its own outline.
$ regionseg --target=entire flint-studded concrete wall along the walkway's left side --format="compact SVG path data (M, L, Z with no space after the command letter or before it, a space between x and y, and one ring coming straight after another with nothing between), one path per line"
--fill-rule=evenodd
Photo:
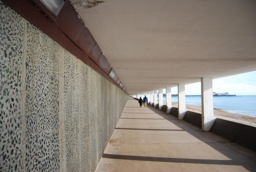
M0 171L94 171L128 95L0 9Z

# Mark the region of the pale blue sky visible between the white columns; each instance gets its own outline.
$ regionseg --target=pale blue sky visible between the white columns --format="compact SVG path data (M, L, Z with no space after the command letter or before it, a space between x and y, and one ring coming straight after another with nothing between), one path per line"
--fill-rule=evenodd
M212 80L212 91L236 95L256 95L256 71L214 79ZM172 88L172 94L178 94L178 87ZM185 85L185 94L201 95L201 83Z

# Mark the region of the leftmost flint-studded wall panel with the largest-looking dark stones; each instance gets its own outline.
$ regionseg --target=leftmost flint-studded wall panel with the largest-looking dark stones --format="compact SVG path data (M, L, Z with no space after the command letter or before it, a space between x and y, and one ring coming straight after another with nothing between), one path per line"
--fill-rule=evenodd
M24 19L0 4L0 171L20 171Z

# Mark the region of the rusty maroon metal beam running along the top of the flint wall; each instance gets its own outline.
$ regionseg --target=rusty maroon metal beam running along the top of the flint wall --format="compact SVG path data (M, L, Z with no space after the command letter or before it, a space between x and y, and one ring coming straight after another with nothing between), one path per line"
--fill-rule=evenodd
M65 0L58 16L50 15L38 0L3 2L120 88L118 78L113 80L108 76L112 69L110 64L68 0Z

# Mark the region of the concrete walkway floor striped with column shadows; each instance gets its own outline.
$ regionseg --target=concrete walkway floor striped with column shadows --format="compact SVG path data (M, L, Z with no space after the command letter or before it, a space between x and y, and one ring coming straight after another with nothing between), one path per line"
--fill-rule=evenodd
M256 172L256 152L129 99L96 172Z

